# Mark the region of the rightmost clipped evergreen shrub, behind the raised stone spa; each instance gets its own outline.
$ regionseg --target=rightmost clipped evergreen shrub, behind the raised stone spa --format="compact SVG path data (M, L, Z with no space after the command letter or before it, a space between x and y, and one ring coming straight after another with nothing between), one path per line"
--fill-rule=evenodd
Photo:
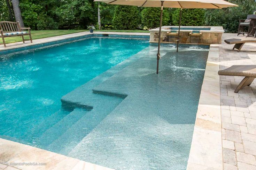
M181 25L202 26L204 24L204 9L183 9L181 13ZM172 14L173 25L179 25L180 9L174 10Z

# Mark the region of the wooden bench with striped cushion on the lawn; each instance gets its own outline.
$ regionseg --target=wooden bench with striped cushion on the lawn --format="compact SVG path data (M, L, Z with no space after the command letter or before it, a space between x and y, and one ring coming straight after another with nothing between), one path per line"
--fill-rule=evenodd
M24 31L26 29L28 31ZM2 37L3 45L5 47L6 47L5 37L10 37L10 36L21 36L23 43L25 43L24 35L29 35L30 41L32 43L30 28L21 28L19 22L1 21L0 22L0 32L1 32L0 37Z

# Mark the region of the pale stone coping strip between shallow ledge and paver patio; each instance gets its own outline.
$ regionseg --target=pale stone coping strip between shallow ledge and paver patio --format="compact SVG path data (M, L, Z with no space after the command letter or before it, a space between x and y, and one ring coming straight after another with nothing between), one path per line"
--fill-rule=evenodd
M219 45L211 44L199 99L188 170L223 169Z

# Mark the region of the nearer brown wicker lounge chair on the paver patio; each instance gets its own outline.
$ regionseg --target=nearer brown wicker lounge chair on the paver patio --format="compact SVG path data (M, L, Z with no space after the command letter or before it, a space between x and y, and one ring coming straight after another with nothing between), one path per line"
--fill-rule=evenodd
M256 65L234 65L218 72L221 76L243 76L245 77L236 87L235 93L245 86L249 86L256 78Z

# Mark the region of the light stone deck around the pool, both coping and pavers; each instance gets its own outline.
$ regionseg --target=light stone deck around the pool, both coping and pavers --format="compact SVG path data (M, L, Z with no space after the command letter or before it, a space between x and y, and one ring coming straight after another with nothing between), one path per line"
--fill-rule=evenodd
M97 32L101 34L101 32ZM106 32L102 32L106 34ZM75 33L17 42L0 46L13 49L90 34ZM111 34L108 32L108 34ZM113 33L135 35L135 33ZM136 35L149 35L137 33ZM253 39L236 34L223 34L222 44L210 46L207 66L196 115L187 169L236 170L256 169L256 80L251 86L234 93L243 77L218 76L219 69L232 65L256 64L256 44L246 43L240 52L225 39ZM255 40L255 39L254 39ZM97 89L96 89L97 90ZM57 153L0 138L0 169L109 169ZM46 163L46 166L8 165L15 162Z

